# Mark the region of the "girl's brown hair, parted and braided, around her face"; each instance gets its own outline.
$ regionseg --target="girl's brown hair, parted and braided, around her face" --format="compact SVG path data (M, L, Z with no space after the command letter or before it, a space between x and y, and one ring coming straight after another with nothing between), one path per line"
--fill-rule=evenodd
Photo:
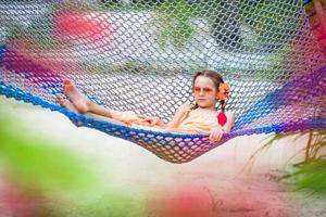
M204 76L204 77L211 78L211 80L214 82L214 86L215 86L217 91L218 91L220 85L224 82L222 75L220 75L215 71L212 71L212 69L199 71L192 77L192 84L191 84L191 90L192 91L193 91L193 88L195 88L195 81L199 76ZM221 103L222 112L224 112L225 111L225 101L221 100L220 103ZM197 103L195 103L195 105L191 107L191 110L196 110L196 108L198 108ZM217 110L217 107L216 107L216 110Z

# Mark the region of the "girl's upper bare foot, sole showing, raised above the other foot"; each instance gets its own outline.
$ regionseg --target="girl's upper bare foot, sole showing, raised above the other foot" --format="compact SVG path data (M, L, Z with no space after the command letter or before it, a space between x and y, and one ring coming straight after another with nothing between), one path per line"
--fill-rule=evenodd
M73 103L77 112L84 114L89 111L91 101L77 89L72 80L65 79L63 81L63 92Z

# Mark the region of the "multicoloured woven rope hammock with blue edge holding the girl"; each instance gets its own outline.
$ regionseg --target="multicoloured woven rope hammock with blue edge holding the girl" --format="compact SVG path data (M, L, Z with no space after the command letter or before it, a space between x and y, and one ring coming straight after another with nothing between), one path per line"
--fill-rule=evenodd
M90 3L91 2L91 3ZM40 105L171 163L242 135L326 128L326 61L309 1L0 2L0 94ZM213 68L231 87L231 132L135 129L61 107L62 80L98 104L172 118L192 103L191 76Z

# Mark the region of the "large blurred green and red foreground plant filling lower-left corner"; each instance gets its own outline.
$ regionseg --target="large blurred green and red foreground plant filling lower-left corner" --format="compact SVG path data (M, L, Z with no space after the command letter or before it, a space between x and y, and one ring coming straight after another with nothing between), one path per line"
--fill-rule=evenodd
M143 216L139 197L55 142L27 135L7 110L0 104L0 216Z

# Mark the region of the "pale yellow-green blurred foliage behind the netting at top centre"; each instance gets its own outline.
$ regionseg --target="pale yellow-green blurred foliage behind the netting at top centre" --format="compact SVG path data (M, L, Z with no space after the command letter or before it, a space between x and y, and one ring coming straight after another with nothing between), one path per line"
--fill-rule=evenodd
M181 48L195 33L190 18L197 16L200 4L186 0L137 1L124 3L122 1L103 1L102 8L112 11L153 11L156 14L153 26L158 28L158 42L162 47L173 44ZM159 25L158 25L159 24Z

